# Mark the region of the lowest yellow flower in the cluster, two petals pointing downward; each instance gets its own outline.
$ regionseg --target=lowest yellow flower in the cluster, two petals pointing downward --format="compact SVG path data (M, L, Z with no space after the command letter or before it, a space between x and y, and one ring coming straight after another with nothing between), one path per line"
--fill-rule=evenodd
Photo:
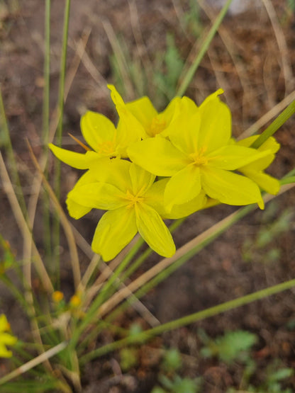
M108 210L96 227L91 244L94 252L110 261L139 232L151 249L162 256L172 256L172 236L152 207L157 195L155 176L129 161L113 160L111 165L112 171L101 170L101 166L99 171L91 168L89 173L95 173L102 181L76 185L68 194L68 200L77 204L76 215L77 206Z

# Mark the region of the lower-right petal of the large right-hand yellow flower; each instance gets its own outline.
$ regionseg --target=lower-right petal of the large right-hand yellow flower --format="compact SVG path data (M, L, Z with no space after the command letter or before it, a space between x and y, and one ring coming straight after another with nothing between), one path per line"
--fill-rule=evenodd
M207 166L201 170L201 183L209 197L222 203L228 205L258 203L263 208L260 189L245 176Z

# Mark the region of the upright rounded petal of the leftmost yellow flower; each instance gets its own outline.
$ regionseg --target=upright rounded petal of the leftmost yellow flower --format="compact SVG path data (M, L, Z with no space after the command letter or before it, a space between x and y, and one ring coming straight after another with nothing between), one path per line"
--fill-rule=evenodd
M106 142L113 142L115 152L116 128L106 116L88 110L81 118L81 130L84 139L96 152L101 154Z

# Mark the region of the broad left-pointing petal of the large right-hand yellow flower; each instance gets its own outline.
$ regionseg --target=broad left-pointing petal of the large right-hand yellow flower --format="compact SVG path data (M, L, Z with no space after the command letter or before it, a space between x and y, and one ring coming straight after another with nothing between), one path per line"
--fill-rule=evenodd
M127 152L131 161L157 176L172 176L189 163L185 154L162 137L134 143Z

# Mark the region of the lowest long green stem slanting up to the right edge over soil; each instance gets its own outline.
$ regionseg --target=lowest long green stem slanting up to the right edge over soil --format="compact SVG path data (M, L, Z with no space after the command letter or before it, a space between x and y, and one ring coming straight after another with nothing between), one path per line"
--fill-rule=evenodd
M275 295L276 293L283 292L284 290L289 290L292 287L295 287L295 279L285 281L281 284L273 285L272 287L267 287L264 290L259 290L257 292L250 293L250 295L238 297L238 299L230 300L228 302L218 304L217 306L210 307L199 312L195 312L194 314L188 315L187 317L167 322L167 324L156 326L155 328L143 331L134 336L129 336L123 338L122 340L107 344L106 346L102 346L101 348L98 348L95 351L91 351L87 353L87 355L82 356L80 362L83 365L89 362L89 360L91 359L97 358L101 355L105 355L106 353L114 351L117 348L121 348L122 346L134 343L143 343L147 340L150 340L150 338L162 334L166 331L179 329L179 327L187 326L208 317L213 317L214 315L221 314L222 312L227 312L230 309L235 309L237 307L244 306L245 304L255 302L256 300L263 299L264 297Z

